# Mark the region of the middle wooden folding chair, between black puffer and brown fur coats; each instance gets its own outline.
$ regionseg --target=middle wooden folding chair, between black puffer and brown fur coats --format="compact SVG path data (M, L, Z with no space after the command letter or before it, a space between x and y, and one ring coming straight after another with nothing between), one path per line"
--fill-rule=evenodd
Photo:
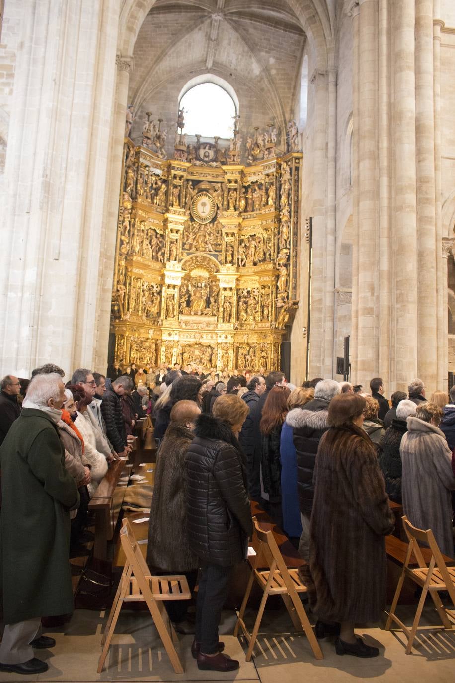
M265 603L270 595L280 595L282 597L284 606L289 612L294 627L296 629L302 629L305 632L314 656L317 659L323 659L321 647L319 647L317 638L308 621L306 611L299 598L299 593L306 592L306 585L300 581L296 568L287 568L273 533L271 531L262 531L256 517L253 517L253 525L254 533L259 542L259 552L256 553L254 561L252 562L250 579L246 587L246 593L244 600L241 603L237 624L234 629L234 635L236 636L239 632L239 627L241 627L241 630L244 632L249 643L246 661L249 662L251 660L254 643L256 642L259 626L261 626L261 619L265 610ZM267 566L267 569L260 570L260 566ZM256 617L256 622L254 622L254 628L250 635L244 622L244 614L254 579L256 579L263 590L263 597Z

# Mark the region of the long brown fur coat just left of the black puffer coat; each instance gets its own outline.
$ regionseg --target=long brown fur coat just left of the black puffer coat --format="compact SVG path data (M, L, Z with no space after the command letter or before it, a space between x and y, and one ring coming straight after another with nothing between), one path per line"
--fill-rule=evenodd
M158 451L147 542L150 568L188 572L199 567L186 533L185 456L193 437L189 429L171 422Z

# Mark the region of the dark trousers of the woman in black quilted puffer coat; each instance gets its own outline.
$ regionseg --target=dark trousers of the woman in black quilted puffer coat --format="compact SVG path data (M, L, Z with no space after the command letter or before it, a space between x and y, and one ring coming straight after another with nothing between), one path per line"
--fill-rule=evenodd
M202 563L196 604L196 635L201 652L218 652L218 626L221 610L226 602L233 566Z

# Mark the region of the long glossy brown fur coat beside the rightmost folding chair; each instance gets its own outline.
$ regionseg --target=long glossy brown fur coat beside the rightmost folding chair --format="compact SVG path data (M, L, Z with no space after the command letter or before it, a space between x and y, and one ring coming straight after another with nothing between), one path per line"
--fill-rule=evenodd
M375 622L385 607L384 536L394 516L365 432L353 424L329 429L313 481L310 607L327 622Z

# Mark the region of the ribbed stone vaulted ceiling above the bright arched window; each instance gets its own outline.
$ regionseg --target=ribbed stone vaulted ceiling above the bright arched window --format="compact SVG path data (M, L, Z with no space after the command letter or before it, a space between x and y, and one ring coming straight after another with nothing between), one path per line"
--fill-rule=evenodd
M250 87L284 122L305 42L286 0L157 0L136 39L130 102L139 109L164 83L211 72Z

